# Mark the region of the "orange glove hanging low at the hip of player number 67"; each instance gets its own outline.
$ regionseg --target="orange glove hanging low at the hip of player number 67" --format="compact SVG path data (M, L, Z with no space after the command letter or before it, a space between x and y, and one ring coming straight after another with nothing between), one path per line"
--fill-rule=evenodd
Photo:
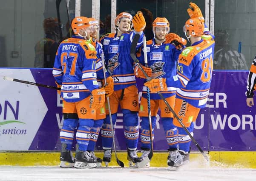
M101 89L94 89L92 90L92 109L99 109L104 106L105 103L105 90L104 88Z

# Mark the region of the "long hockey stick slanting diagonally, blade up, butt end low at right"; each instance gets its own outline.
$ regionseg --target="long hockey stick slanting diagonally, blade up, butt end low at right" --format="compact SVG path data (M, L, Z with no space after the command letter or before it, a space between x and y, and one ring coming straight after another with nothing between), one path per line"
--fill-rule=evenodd
M133 61L135 62L135 64L141 69L141 71L143 72L143 74L146 76L146 80L150 81L150 77L147 75L147 73L143 70L143 68L141 67L141 65L139 64L139 61L136 58L136 45L137 42L140 38L139 34L135 34L133 41L132 41L132 46L131 46L131 50L130 50L130 56L132 57ZM170 106L170 104L167 102L167 100L164 98L164 96L161 94L161 92L157 92L158 95L161 97L162 100L164 100L164 103L166 104L166 106L170 109L170 111L173 113L173 116L178 120L178 122L181 124L182 128L186 131L186 133L188 134L188 136L190 136L191 140L195 143L196 147L198 148L198 150L201 152L201 154L204 156L204 159L207 160L207 162L209 162L209 158L206 156L206 154L204 153L204 151L202 150L202 148L200 147L200 145L198 145L198 143L196 142L195 138L190 134L190 132L187 130L186 126L184 125L184 123L182 123L182 121L180 120L180 118L177 116L177 114L175 113L175 111L172 109L172 107Z

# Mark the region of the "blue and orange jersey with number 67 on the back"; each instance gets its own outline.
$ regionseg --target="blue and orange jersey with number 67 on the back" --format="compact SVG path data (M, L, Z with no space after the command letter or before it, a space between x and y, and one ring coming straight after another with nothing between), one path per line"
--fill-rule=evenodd
M61 42L52 74L61 86L66 102L77 102L98 89L95 47L83 37L75 36Z

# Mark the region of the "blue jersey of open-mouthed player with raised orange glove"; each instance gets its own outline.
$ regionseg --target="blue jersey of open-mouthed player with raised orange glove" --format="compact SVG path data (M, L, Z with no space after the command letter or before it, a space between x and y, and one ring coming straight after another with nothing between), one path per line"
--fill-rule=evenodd
M117 37L117 33L110 33L101 39L107 70L113 77L115 91L136 85L133 60L130 56L134 35L134 31L123 33L120 37ZM137 49L142 44L143 33L141 33Z

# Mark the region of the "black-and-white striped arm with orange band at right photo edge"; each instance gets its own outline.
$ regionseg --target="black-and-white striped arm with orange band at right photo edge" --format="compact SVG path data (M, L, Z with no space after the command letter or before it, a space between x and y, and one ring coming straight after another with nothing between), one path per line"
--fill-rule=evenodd
M246 104L251 107L254 106L253 102L253 91L256 90L256 56L253 60L253 63L250 67L250 72L247 78L247 87L246 87Z

